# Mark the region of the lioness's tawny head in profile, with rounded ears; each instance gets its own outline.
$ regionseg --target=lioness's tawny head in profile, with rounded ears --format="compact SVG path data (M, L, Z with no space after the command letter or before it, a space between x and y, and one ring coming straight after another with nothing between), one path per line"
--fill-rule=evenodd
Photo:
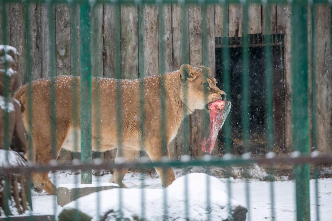
M191 111L204 109L213 101L226 99L226 93L216 86L217 82L210 76L210 69L206 66L193 68L188 64L182 65L180 78L184 88L187 88L187 91L182 91L181 97ZM185 91L187 96L184 96Z

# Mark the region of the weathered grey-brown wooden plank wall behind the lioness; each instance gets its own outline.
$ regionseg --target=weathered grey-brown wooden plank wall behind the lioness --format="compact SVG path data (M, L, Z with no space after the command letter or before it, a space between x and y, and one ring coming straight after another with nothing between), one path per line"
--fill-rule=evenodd
M21 83L26 82L27 78L27 56L31 57L33 78L39 79L48 77L48 19L47 7L42 4L30 4L26 10L24 4L10 3L0 5L7 11L7 36L8 42L18 48L21 54ZM207 31L202 33L202 12L198 5L190 5L188 13L189 36L188 50L189 63L193 66L202 65L202 35L208 35L208 64L211 68L211 74L215 72L215 54L214 54L214 37L221 37L223 33L228 36L243 36L243 8L241 5L209 5L207 7ZM79 26L79 21L71 24L73 12L68 5L57 4L55 10L55 32L56 32L56 74L67 75L73 70L73 58L71 55L72 46L76 44L79 50L79 35L71 36L72 24ZM93 75L103 77L115 77L115 44L114 33L117 25L115 24L115 8L113 5L97 5L92 11L92 28L96 35L93 35L93 50L98 53L93 56ZM270 33L266 33L266 10L270 14ZM28 12L28 15L26 13ZM284 79L285 79L285 143L284 152L291 151L291 7L290 5L272 4L269 9L265 6L254 4L248 9L249 27L248 32L254 33L283 33L285 34L284 45ZM163 34L165 39L165 58L166 70L178 70L182 61L182 10L179 5L167 5L164 7L164 33L158 33L158 7L147 5L143 7L143 41L144 41L144 69L145 75L151 76L158 74L158 35ZM138 78L138 9L137 6L122 5L120 7L121 15L121 76L124 79ZM227 27L224 27L224 21L228 18ZM26 19L30 21L30 31L26 33ZM317 56L316 73L317 73L317 93L321 96L317 97L317 125L318 125L318 144L322 151L330 151L332 142L331 126L331 10L330 7L320 5L316 8L315 17L315 45ZM0 16L0 22L2 17ZM2 22L0 23L2 25ZM227 28L225 31L224 28ZM79 31L79 30L78 30ZM79 33L78 33L79 34ZM0 29L0 37L3 35ZM32 48L31 53L27 55L26 37L31 36ZM2 42L2 38L0 39ZM75 65L77 62L75 60ZM77 68L77 67L76 67ZM327 102L328 101L328 102ZM203 112L196 111L190 117L190 151L193 156L200 157L203 155L201 151L201 142L203 136ZM181 130L181 129L180 129ZM170 152L172 158L178 158L182 155L182 136L178 137L170 144ZM213 154L218 154L218 150L214 150ZM64 159L70 158L70 154ZM105 154L107 159L114 158L115 151Z

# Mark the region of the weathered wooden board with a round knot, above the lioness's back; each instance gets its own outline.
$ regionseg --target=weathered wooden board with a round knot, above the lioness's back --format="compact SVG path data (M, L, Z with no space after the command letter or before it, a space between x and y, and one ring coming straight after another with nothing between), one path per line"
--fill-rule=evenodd
M70 75L70 10L55 5L56 75Z

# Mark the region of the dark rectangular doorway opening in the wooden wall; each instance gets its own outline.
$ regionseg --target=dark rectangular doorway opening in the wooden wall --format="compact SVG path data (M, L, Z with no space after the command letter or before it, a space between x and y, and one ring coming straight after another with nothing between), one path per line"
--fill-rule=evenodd
M274 115L274 149L285 148L285 90L284 90L284 59L283 35L251 34L249 44L249 151L252 153L267 152L266 134L266 39L272 43L272 76L273 76L273 115ZM231 137L226 138L223 131L219 132L219 150L224 152L225 139L231 139L231 150L234 154L244 151L242 140L242 38L216 38L215 61L217 86L224 88L224 50L228 49L230 91L227 100L232 102L230 112Z

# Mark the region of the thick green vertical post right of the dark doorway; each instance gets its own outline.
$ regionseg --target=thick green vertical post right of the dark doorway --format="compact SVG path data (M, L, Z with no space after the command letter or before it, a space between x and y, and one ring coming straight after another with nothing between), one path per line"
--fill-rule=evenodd
M292 4L292 123L294 150L309 153L307 4ZM310 220L309 164L296 165L297 220Z

